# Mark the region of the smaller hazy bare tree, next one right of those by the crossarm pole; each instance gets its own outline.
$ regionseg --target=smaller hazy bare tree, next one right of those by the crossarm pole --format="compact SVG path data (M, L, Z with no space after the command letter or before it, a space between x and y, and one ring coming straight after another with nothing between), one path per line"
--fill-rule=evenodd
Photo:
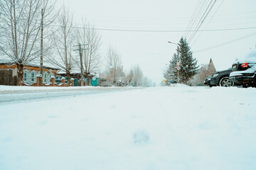
M119 78L122 77L123 74L121 56L116 50L113 49L113 47L109 47L106 60L107 71L105 72L105 78L113 85L116 85L117 81L119 81Z

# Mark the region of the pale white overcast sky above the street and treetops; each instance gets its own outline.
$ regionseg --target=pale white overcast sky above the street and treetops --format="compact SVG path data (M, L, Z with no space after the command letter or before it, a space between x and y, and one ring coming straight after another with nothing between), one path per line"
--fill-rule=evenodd
M181 36L187 38L198 64L207 64L212 58L217 70L228 69L235 58L255 49L255 0L213 0L213 8L191 38L193 32L186 30L196 29L210 1L63 0L58 5L64 2L76 23L86 18L95 28L102 29L102 56L111 45L122 55L124 69L128 71L139 64L144 75L159 84L166 64L176 52L176 45L168 41L177 43ZM192 16L195 17L189 24ZM209 47L213 48L205 50Z

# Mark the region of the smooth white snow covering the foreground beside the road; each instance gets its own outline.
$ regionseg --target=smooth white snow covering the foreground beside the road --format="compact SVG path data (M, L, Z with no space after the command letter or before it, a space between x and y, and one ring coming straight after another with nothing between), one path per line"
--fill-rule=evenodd
M0 112L1 170L256 169L253 88L124 88Z

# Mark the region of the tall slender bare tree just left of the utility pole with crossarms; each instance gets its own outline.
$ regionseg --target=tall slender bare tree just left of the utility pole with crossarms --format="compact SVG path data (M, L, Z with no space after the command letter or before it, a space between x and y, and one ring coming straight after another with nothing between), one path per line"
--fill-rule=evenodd
M55 67L62 69L68 76L68 86L70 86L70 71L74 67L73 62L73 42L75 40L73 30L73 16L63 7L58 16L58 30L54 33L53 43L57 56L50 56L49 62Z

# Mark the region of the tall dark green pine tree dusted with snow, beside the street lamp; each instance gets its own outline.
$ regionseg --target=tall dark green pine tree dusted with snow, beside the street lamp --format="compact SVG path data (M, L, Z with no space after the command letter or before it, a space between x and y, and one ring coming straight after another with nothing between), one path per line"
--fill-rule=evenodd
M181 62L180 79L186 84L197 72L197 60L193 58L191 48L188 46L186 39L181 38L179 46L179 62Z

